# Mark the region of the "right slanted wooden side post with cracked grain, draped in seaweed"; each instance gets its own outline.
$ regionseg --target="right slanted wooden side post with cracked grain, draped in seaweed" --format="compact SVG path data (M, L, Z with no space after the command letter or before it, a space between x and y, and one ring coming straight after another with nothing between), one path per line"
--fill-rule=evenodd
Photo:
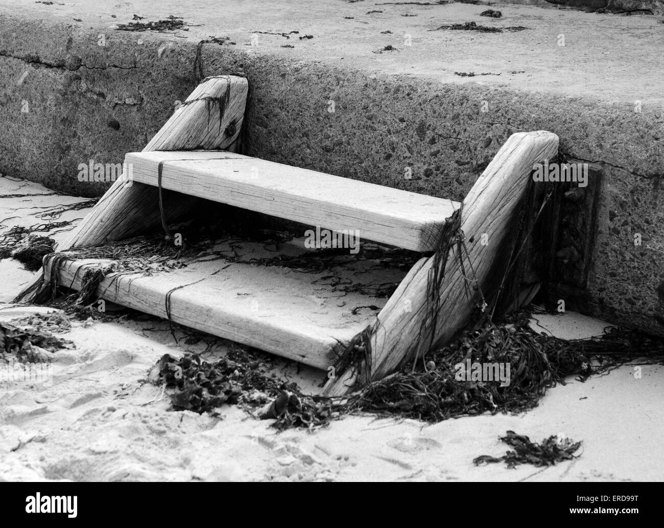
M535 163L551 159L558 150L558 136L550 132L513 134L498 151L493 161L477 179L463 200L461 230L469 255L464 255L465 272L486 295L488 288L497 288L496 279L502 277L495 262L501 260L509 248L509 228L513 226L515 213L523 202L531 171ZM483 245L482 234L488 242ZM504 258L502 259L504 260ZM361 370L348 368L337 372L325 386L327 395L343 395L361 385L376 381L392 373L406 358L426 353L432 333L428 321L428 284L434 276L435 257L422 259L413 268L380 311L377 321L371 325L367 343L370 365L361 360ZM472 265L472 268L470 266ZM503 268L504 271L504 268ZM473 282L468 283L459 264L459 255L453 246L450 249L445 278L439 292L441 307L436 317L434 343L446 343L459 328L469 321L473 308L479 302ZM473 292L466 295L466 288ZM356 363L357 366L357 363ZM358 373L361 372L361 379Z

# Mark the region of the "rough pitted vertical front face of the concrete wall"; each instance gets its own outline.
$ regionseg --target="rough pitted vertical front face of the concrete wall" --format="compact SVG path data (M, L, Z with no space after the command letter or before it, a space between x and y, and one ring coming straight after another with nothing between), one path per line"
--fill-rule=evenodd
M113 33L108 48L94 45L97 33L0 18L0 171L100 195L108 185L80 183L78 163L121 163L141 149L201 74L248 77L249 155L456 200L511 133L550 130L563 153L601 173L599 189L589 186L565 220L588 226L579 255L558 248L556 266L582 260L585 275L556 279L556 291L567 309L664 334L661 109L374 74L241 46L167 46L149 34L137 46L137 35Z

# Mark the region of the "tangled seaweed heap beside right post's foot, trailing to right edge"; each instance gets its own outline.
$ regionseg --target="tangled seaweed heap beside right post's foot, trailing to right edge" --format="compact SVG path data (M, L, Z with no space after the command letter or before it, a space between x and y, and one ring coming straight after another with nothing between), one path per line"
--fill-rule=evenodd
M585 381L635 358L664 362L664 339L612 328L600 337L567 341L538 334L527 325L488 325L426 359L436 367L402 371L363 391L359 406L428 422L482 412L523 412L537 406L547 389L566 377ZM509 363L511 383L457 381L455 365Z

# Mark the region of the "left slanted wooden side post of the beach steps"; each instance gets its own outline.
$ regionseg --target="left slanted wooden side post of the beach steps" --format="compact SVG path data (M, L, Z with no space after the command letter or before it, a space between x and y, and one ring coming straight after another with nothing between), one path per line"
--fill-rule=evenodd
M143 151L234 149L244 119L247 90L247 80L242 77L207 78L175 110ZM193 197L181 197L167 211L168 217L182 215L195 202ZM157 189L128 181L123 173L123 177L106 191L92 211L56 249L99 246L112 240L129 238L157 226L160 218Z

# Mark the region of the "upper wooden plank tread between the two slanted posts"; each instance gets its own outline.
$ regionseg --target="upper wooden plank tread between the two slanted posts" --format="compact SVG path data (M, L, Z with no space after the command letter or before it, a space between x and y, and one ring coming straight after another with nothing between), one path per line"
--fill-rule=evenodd
M222 151L129 153L134 181L414 251L436 248L459 203Z

